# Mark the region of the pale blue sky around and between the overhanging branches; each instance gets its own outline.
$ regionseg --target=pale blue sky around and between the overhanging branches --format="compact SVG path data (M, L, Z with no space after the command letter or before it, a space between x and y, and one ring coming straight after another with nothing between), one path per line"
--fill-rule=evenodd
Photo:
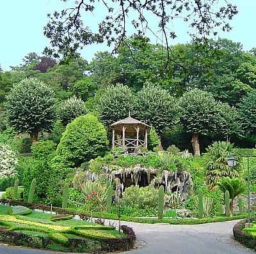
M256 47L256 0L232 0L238 6L239 14L230 22L233 27L230 33L220 33L222 38L239 41L245 50ZM0 64L3 70L9 66L19 65L22 58L29 52L40 54L49 41L43 34L47 23L47 13L61 10L60 0L0 0L1 47ZM90 24L97 24L103 11L99 10L90 17ZM179 36L172 43L187 42L189 37L180 24L173 24ZM152 41L155 39L152 38ZM155 41L154 41L155 42ZM90 61L95 52L109 50L106 45L86 47L82 56Z

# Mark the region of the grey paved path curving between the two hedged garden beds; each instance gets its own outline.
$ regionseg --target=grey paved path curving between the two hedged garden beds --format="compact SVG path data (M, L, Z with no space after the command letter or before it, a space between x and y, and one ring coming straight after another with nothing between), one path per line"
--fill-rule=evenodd
M249 254L254 251L234 240L232 228L236 221L204 225L163 225L127 223L134 228L138 249L125 254ZM106 221L108 224L108 221ZM0 245L0 254L49 254L51 251L32 250Z

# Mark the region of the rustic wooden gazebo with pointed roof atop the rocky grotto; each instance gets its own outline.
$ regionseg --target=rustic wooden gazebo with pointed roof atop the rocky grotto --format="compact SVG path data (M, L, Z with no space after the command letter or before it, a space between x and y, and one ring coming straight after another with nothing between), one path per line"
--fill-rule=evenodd
M136 150L147 148L150 126L130 116L110 125L112 129L112 148Z

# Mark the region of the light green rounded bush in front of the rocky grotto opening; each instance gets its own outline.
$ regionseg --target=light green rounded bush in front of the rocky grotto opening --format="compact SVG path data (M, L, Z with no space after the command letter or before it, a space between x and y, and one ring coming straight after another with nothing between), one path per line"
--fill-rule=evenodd
M158 205L158 190L152 186L130 186L125 189L121 204L134 209L150 210L151 216L156 215Z

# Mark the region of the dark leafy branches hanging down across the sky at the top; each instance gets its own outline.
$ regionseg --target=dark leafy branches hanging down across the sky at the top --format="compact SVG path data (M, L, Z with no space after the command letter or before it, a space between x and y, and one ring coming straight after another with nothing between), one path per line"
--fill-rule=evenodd
M51 47L46 48L45 52L56 57L60 54L64 57L72 56L85 45L104 41L108 45L114 43L116 50L125 44L127 30L136 36L145 36L148 31L155 35L156 29L150 27L150 17L157 22L158 29L163 33L169 59L169 38L177 36L177 31L169 29L175 20L181 19L186 26L191 27L189 35L192 38L205 40L209 35L216 35L218 28L230 31L228 21L237 14L236 6L225 0L207 0L204 3L199 0L122 0L111 3L73 0L70 6L49 15L49 22L44 27L45 36L51 40ZM101 17L97 29L93 29L88 14L102 8L106 10L106 17ZM129 15L133 18L128 19Z

